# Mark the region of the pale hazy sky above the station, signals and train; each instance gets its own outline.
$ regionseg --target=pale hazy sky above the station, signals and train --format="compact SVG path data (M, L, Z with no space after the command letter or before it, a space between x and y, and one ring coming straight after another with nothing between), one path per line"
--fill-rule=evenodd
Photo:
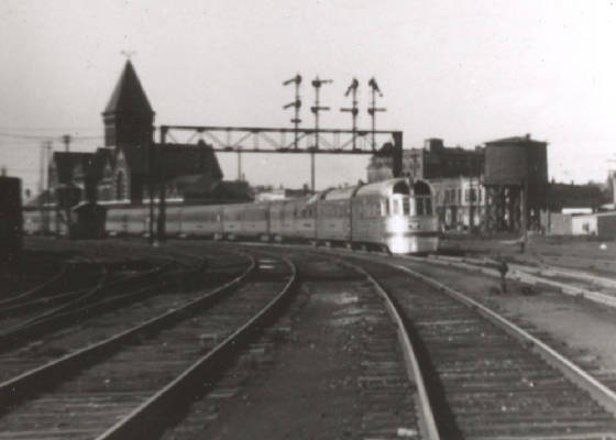
M312 128L309 80L319 75L321 127L350 129L344 91L367 80L383 98L377 129L472 148L530 133L547 141L550 178L604 182L616 168L615 1L542 0L0 0L0 166L38 182L42 142L103 143L101 112L132 63L155 124L290 128L285 79L305 78L301 127ZM221 154L226 178L237 177ZM610 162L614 161L614 162ZM317 188L365 179L366 156L317 156ZM308 156L245 155L251 184L299 187Z

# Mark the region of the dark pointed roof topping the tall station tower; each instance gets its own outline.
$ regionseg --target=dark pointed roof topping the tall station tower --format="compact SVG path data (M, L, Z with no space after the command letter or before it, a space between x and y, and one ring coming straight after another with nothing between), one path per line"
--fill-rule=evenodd
M130 59L124 65L103 114L117 112L154 113Z

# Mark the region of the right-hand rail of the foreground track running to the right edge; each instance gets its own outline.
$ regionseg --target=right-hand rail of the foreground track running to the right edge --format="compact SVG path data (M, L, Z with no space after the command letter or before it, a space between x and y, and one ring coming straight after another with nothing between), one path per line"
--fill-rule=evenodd
M427 275L424 275L417 271L414 271L411 268L398 264L393 264L393 263L385 263L385 264L392 267L396 267L399 271L406 272L407 274L410 274L424 280L425 283L428 283L429 285L437 287L448 296L476 310L480 315L482 315L484 318L490 320L492 323L496 324L498 328L503 329L506 333L514 337L518 341L521 341L528 349L537 352L546 362L548 362L548 364L558 369L561 373L563 373L563 375L565 375L575 385L588 392L588 394L597 403L600 403L608 413L610 413L613 416L616 416L616 393L607 388L596 378L594 378L588 373L586 373L578 365L575 365L573 362L564 358L562 354L558 353L556 350L547 345L544 342L535 338L532 334L522 330L514 322L494 312L490 308L483 306L482 304L475 301L472 298L469 298L466 295L449 286L446 286L444 284Z

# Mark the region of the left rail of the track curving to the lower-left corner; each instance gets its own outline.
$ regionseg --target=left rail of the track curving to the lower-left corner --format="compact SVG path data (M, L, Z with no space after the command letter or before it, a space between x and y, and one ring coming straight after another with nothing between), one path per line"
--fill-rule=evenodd
M29 396L38 393L42 388L50 386L50 382L57 383L58 377L62 377L67 372L72 373L78 371L106 353L113 352L118 346L130 341L132 338L164 326L186 311L209 306L230 289L241 285L255 267L256 262L251 257L249 267L242 274L179 308L169 310L102 341L79 349L48 362L45 365L35 367L16 377L0 383L0 413L6 408L16 405Z

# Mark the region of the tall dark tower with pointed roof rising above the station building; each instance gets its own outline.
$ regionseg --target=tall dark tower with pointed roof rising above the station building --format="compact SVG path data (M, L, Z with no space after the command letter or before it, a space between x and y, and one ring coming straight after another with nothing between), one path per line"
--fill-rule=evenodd
M105 145L130 150L152 141L154 111L130 59L102 112Z

